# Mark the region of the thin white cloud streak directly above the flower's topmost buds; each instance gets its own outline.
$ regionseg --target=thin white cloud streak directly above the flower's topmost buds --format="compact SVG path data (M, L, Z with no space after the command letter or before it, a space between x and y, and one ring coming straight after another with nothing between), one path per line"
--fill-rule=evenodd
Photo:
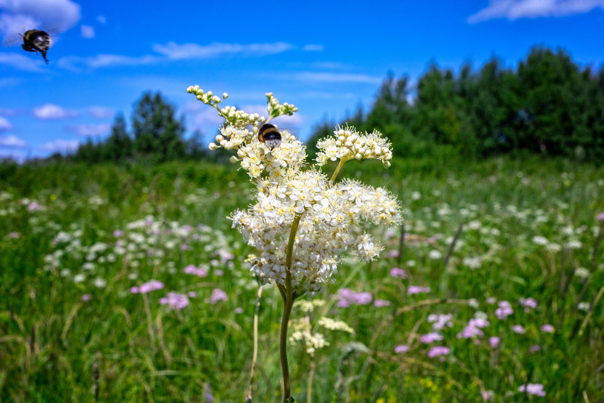
M159 54L167 56L172 60L179 59L209 59L224 54L250 54L254 56L264 56L267 54L281 53L293 48L291 44L284 42L275 42L274 44L176 44L168 42L165 45L155 44L153 50Z

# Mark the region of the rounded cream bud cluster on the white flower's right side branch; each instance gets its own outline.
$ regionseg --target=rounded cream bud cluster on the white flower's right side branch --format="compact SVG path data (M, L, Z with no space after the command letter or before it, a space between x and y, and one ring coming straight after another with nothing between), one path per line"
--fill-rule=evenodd
M335 137L326 137L316 143L320 152L316 153L316 162L324 165L327 160L342 161L356 158L377 158L385 167L390 166L392 150L390 141L378 131L361 134L353 126L336 126Z

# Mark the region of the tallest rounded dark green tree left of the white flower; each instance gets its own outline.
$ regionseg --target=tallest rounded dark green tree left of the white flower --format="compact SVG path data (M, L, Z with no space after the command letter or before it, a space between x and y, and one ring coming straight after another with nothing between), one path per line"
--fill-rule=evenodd
M183 118L176 118L175 107L159 92L143 94L134 109L132 129L134 149L138 153L149 155L159 163L186 155L187 146L182 138L185 131Z

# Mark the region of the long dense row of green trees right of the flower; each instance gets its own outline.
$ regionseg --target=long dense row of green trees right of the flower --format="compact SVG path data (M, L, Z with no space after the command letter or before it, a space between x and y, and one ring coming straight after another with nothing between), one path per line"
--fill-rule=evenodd
M604 69L582 69L562 50L535 47L515 69L493 58L457 76L432 64L414 91L390 74L371 110L341 123L381 131L399 156L526 150L604 162ZM315 127L309 146L332 127Z

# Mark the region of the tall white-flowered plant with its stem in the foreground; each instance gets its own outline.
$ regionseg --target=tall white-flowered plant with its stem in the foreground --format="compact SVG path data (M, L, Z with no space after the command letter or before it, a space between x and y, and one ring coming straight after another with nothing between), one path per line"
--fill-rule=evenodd
M239 162L256 185L255 204L234 211L230 219L248 245L261 251L252 260L251 271L263 282L276 283L283 298L281 370L284 401L292 401L286 342L295 298L323 292L338 272L342 253L367 262L379 255L382 247L363 228L402 221L396 196L388 190L351 179L335 183L336 176L352 159L379 159L389 167L391 144L377 131L362 134L355 127L336 126L333 136L318 141L316 164L307 167L306 146L294 135L281 132L281 144L274 149L257 136L261 123L292 115L298 110L294 105L281 104L268 92L269 116L265 118L234 106L220 108L226 93L220 98L199 86L190 86L187 92L225 118L210 150L236 150L231 162ZM331 178L321 171L327 160L339 160Z

